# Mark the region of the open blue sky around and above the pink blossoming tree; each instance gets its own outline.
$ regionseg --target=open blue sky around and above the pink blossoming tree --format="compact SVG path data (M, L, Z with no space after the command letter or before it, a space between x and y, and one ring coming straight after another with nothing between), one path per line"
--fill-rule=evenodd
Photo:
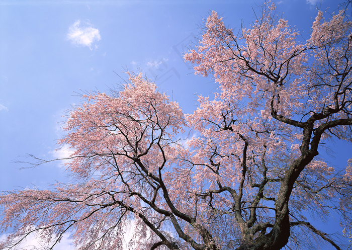
M337 0L274 1L277 11L308 37L316 6L332 12ZM341 0L342 2L342 0ZM57 163L22 170L20 155L54 158L59 122L80 102L75 93L108 91L125 69L140 69L177 100L184 112L211 78L195 76L182 53L197 43L203 18L215 10L232 28L253 21L261 1L20 1L0 0L0 190L39 188L64 181ZM117 74L116 74L116 73ZM337 166L351 146L336 143ZM62 152L61 152L62 153ZM336 222L331 222L333 225ZM336 226L335 231L342 230ZM333 231L331 231L333 232Z

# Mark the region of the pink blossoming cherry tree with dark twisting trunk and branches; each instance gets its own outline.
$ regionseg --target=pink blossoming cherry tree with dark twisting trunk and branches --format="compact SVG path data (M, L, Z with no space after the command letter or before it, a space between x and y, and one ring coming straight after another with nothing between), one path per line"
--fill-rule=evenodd
M0 248L70 233L77 249L122 249L133 224L132 249L302 249L311 236L341 249L305 215L351 229L352 158L338 169L319 155L352 140L351 32L343 11L319 11L307 40L271 4L238 33L212 12L185 60L215 97L184 115L131 72L121 91L84 96L59 141L75 183L4 193Z

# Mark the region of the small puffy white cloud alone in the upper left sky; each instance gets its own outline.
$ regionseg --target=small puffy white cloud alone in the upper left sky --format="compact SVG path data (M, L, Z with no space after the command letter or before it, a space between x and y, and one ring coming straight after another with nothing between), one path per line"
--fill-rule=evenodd
M102 37L92 24L78 20L68 28L67 39L76 46L86 46L92 50L92 44ZM97 48L97 45L95 47Z

